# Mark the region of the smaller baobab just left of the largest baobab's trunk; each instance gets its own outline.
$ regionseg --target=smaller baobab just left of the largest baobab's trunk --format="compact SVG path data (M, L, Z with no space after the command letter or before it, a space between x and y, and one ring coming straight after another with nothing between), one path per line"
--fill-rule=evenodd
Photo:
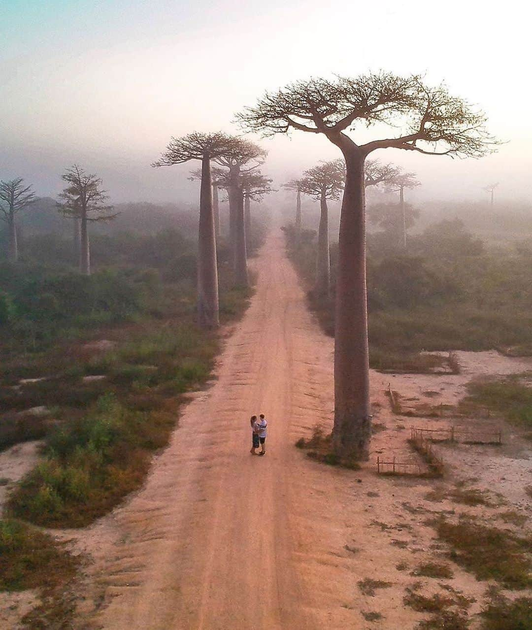
M318 252L316 255L315 293L327 298L330 292L329 211L327 200L338 200L344 188L344 160L323 162L304 171L300 181L301 192L320 202Z

